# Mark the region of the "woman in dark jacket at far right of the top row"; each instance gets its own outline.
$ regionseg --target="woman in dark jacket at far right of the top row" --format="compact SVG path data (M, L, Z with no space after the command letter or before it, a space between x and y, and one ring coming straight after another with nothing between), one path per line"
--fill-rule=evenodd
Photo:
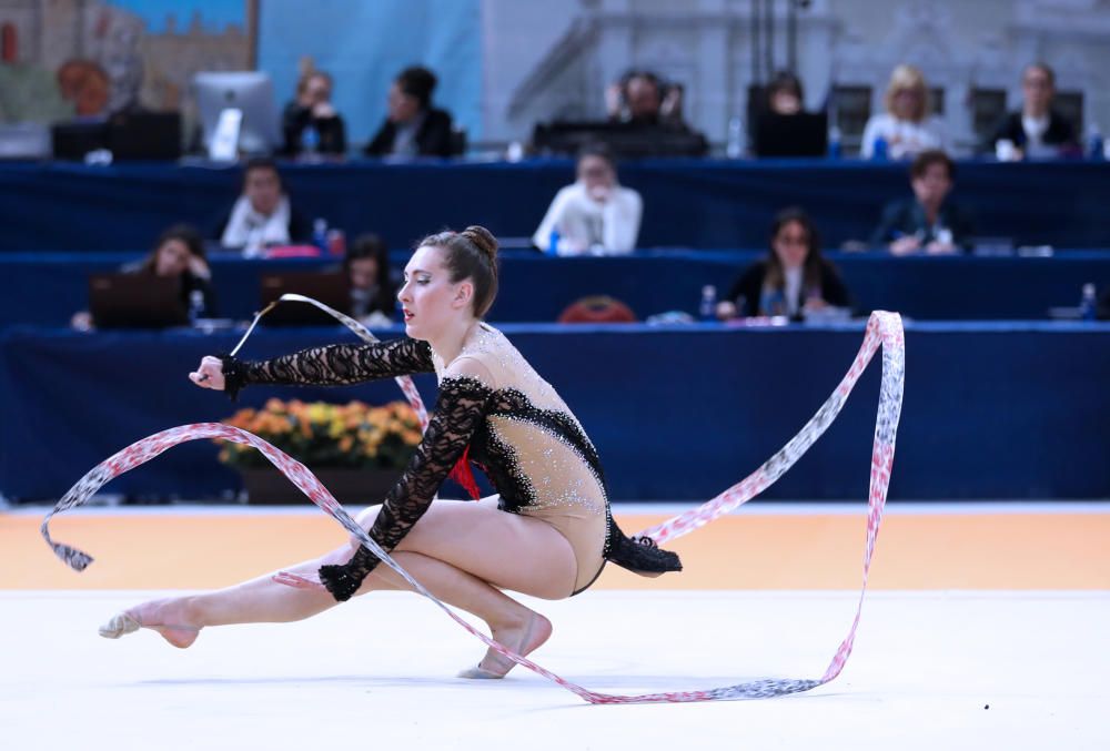
M990 138L989 151L1001 159L1059 156L1078 151L1076 129L1052 109L1056 97L1056 73L1043 62L1026 65L1021 72L1021 110L1007 114ZM999 141L1009 148L1000 150Z

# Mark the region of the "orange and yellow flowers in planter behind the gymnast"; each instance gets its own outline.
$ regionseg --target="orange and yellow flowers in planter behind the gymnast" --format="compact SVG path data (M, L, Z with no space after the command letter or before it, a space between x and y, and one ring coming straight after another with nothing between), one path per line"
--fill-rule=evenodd
M223 420L273 444L311 469L343 504L381 503L421 442L416 413L404 402L371 406L270 399ZM218 440L220 460L243 478L248 503L306 503L261 451Z

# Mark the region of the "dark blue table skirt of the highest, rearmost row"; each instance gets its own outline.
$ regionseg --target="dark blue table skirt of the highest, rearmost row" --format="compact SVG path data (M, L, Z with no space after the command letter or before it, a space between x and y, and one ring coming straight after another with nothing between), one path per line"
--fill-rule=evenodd
M567 160L508 163L287 164L284 181L309 219L349 235L373 231L407 247L444 226L484 224L527 237ZM886 202L910 195L907 165L826 160L648 160L620 165L644 196L640 247L760 247L771 217L809 211L826 244L866 240ZM170 224L214 229L240 185L238 166L0 164L0 251L147 247ZM960 163L953 199L977 233L1018 244L1110 246L1110 163Z

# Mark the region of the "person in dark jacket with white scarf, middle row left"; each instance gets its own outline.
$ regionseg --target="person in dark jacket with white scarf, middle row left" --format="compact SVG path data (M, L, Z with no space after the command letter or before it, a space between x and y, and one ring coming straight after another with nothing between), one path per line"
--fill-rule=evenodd
M312 227L282 190L278 164L255 158L243 169L243 192L220 222L215 237L224 247L255 252L270 245L307 242Z

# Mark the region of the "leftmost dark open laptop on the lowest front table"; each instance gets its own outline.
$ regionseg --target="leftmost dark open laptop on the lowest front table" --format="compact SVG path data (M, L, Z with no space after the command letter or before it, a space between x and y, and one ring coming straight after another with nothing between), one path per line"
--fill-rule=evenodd
M90 274L89 312L97 328L165 328L189 323L181 278L153 274Z

